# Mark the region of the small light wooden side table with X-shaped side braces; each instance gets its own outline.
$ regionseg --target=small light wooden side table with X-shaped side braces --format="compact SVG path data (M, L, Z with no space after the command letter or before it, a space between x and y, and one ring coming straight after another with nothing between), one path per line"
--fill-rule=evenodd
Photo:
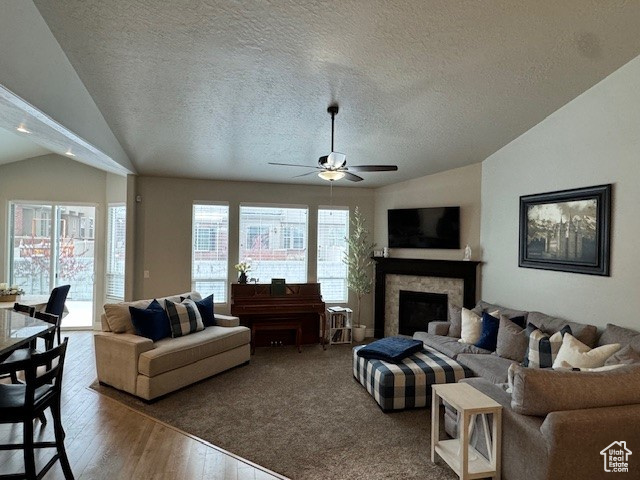
M436 453L447 462L460 480L491 477L500 480L500 442L502 440L502 405L466 383L432 385L431 461ZM458 438L440 440L440 400L458 414ZM489 430L487 415L493 414ZM476 415L480 415L489 458L469 445ZM493 438L492 438L493 437Z

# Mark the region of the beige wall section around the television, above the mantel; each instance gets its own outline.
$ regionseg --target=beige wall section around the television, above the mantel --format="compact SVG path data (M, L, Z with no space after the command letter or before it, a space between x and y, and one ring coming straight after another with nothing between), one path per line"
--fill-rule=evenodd
M472 258L478 260L480 251L480 186L482 164L456 168L434 175L381 187L375 191L375 235L377 249L387 245L387 210L392 208L460 206L460 250L391 249L397 258L427 258L462 260L464 247L469 244Z

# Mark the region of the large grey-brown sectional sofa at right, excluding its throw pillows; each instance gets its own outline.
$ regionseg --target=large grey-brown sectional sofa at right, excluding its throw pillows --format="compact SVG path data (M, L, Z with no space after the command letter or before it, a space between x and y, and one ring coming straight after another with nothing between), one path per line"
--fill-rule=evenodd
M509 318L524 317L549 334L569 325L589 347L620 343L640 352L640 333L613 324L599 333L593 325L486 302L472 311L481 315L496 310ZM462 381L503 406L503 479L612 478L604 470L606 452L602 453L609 445L624 441L630 451L640 452L640 365L605 372L525 368L512 358L460 343L449 335L451 328L451 322L433 322L428 332L416 332L414 338L469 367L477 378ZM445 409L447 433L456 437L456 427L455 414ZM480 450L483 437L478 422L474 442ZM628 474L632 478L638 475L640 462L633 455L629 459L635 465Z

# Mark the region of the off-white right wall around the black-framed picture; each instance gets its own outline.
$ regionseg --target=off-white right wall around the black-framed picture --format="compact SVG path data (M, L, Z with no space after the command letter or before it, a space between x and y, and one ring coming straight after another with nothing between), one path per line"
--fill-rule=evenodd
M640 57L493 154L482 168L482 297L640 327ZM526 194L613 183L611 276L518 267Z

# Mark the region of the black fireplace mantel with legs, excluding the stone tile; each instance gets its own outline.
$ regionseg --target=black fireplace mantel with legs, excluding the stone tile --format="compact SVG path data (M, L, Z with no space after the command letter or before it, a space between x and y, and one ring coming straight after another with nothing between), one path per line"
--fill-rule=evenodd
M461 278L464 282L463 306L473 308L476 303L476 271L481 262L384 257L374 257L373 260L376 262L374 326L376 338L384 337L385 276L387 274Z

